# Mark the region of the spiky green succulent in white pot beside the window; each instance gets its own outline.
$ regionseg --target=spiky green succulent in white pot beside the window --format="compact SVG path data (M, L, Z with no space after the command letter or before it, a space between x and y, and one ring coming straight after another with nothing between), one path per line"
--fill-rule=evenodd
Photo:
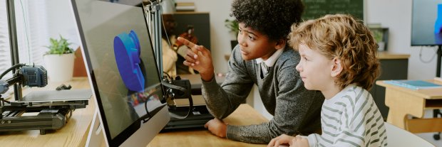
M71 43L68 43L68 40L62 36L60 36L59 40L54 38L49 40L51 44L46 46L49 50L43 55L49 80L52 82L72 80L75 55L73 54L73 49L69 48Z

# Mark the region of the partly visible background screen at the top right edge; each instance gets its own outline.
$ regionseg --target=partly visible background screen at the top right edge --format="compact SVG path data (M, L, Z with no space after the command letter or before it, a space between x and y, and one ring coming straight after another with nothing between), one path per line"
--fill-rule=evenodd
M442 45L442 1L413 0L411 45Z

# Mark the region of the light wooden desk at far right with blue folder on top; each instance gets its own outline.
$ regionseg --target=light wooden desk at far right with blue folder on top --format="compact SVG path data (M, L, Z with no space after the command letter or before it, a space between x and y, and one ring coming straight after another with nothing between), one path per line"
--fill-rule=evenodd
M422 119L425 109L442 108L442 88L413 90L384 81L377 81L376 85L386 87L385 104L390 108L387 122L412 133L442 131L442 118ZM407 114L417 118L409 119Z

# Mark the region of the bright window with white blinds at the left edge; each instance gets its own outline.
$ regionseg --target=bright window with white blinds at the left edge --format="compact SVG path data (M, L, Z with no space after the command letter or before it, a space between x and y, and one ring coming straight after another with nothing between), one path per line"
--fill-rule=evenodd
M47 50L44 47L45 41L48 41L46 1L17 0L14 5L19 61L26 64L43 65L43 53ZM0 1L1 73L11 67L8 29L6 1ZM7 74L5 77L11 77L11 74Z

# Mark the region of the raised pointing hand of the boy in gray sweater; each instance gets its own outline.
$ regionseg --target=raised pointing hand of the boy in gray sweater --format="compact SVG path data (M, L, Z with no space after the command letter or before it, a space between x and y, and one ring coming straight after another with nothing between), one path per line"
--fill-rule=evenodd
M195 45L195 43L192 43L182 37L178 37L178 41L190 48L190 50L187 50L186 56L184 57L185 61L183 62L183 64L192 67L194 70L200 72L202 80L212 80L215 72L210 51L207 50L207 48L205 48L204 46Z

